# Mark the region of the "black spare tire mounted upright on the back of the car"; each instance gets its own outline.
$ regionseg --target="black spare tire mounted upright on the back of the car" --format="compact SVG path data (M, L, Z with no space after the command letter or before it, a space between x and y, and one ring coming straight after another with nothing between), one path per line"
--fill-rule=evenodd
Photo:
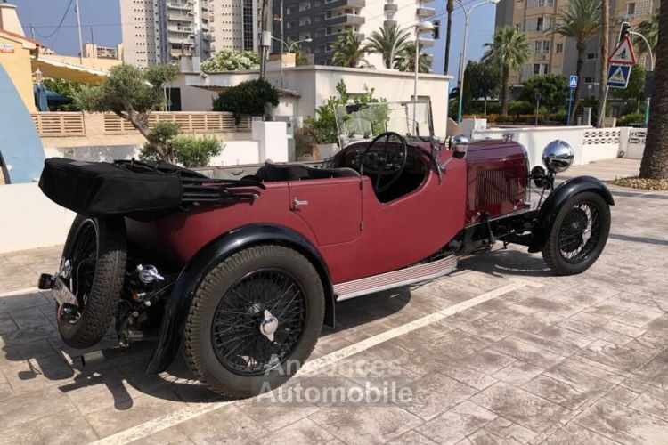
M75 258L77 255L81 258ZM65 344L84 349L102 339L118 311L126 271L125 220L77 215L62 251L62 263L66 260L73 263L69 284L77 293L79 315L76 320L64 320L58 308L58 329ZM88 271L77 273L80 269L74 262L84 267L80 260L90 264Z

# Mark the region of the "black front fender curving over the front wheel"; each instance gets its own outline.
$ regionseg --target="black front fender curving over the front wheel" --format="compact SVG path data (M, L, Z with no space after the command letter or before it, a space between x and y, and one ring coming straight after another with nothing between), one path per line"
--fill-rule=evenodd
M576 176L562 182L545 199L545 202L536 215L529 252L534 253L542 250L561 207L564 206L568 199L583 191L598 193L607 202L608 206L615 206L615 199L613 199L610 190L607 190L606 184L596 178L591 176Z

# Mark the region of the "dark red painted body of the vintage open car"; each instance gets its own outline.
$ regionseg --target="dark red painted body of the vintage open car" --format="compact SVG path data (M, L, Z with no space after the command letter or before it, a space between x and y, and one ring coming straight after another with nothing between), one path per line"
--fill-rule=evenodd
M420 145L411 150L429 166L429 146ZM281 226L318 250L336 285L420 262L477 223L481 212L494 218L525 208L526 157L517 142L475 142L463 159L438 150L436 161L447 163L440 178L427 168L416 190L387 203L379 201L368 176L266 182L252 202L148 223L128 220L128 236L183 265L223 233L258 223ZM295 206L295 200L308 204Z

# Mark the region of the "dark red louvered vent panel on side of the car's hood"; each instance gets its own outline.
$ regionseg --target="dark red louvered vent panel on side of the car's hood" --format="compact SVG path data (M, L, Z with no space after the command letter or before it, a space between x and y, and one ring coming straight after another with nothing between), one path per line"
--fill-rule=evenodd
M476 207L491 206L504 201L524 199L524 187L520 186L522 172L516 166L490 168L477 173Z

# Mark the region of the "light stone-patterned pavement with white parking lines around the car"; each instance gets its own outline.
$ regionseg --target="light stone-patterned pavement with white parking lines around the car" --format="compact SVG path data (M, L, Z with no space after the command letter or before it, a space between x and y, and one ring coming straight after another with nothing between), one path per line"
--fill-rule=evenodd
M666 443L668 193L613 191L611 236L590 271L555 277L540 255L509 248L341 303L312 372L290 385L391 382L409 401L221 401L183 361L146 376L151 344L73 368L53 301L6 294L53 270L59 249L0 255L0 443Z

